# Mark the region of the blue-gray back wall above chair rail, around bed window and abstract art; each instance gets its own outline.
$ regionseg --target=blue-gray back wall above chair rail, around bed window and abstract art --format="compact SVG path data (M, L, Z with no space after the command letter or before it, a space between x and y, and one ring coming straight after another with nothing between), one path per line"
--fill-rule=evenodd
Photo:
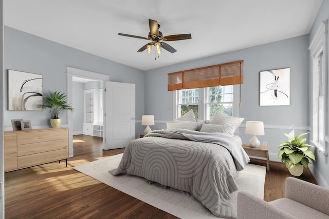
M197 59L146 72L145 113L153 113L155 120L172 120L172 92L167 91L167 73L244 59L242 105L239 109L243 123L264 121L267 127L308 126L308 35ZM290 106L259 105L260 71L290 67ZM294 86L298 84L298 86ZM156 90L157 92L153 92ZM159 98L161 97L161 98ZM306 97L306 98L305 98ZM243 134L241 134L243 136ZM266 133L264 140L271 134ZM283 135L284 136L284 135ZM282 136L279 136L279 139ZM271 142L270 145L278 145ZM271 147L271 151L274 149Z

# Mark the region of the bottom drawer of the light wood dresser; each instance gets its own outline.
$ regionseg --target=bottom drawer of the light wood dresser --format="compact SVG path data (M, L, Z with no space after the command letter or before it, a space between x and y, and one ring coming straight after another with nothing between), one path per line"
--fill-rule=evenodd
M64 160L68 158L68 149L47 151L42 153L30 154L17 157L17 168L30 167L49 163L53 161Z

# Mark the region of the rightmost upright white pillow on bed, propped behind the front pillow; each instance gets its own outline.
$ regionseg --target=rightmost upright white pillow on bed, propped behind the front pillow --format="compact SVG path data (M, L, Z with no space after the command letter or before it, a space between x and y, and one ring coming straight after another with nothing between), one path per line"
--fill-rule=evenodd
M227 127L227 134L233 136L235 130L239 128L244 119L245 118L233 117L217 111L214 117L209 121L209 124L224 125Z

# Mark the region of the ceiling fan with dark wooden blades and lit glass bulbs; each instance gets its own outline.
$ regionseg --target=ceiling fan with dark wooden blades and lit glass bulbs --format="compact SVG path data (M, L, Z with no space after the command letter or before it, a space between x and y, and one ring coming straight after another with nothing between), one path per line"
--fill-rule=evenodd
M190 33L163 36L162 33L159 31L160 25L158 24L157 21L154 21L152 19L149 19L149 25L150 25L150 32L149 32L148 37L135 36L135 35L125 34L125 33L119 33L119 35L140 38L140 39L147 39L149 41L152 41L151 43L145 44L137 52L142 52L146 49L148 53L151 53L152 45L153 45L155 47L156 53L158 55L161 55L161 48L163 48L171 53L174 53L177 51L172 46L170 46L169 44L167 44L163 41L181 41L182 39L191 39L192 38Z

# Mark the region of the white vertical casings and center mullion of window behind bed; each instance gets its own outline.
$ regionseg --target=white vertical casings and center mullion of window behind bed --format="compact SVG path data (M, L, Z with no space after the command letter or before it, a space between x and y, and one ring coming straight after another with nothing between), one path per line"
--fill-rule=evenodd
M240 85L233 86L233 102L232 102L232 116L239 117L239 103L240 103ZM207 88L198 88L199 89L199 108L198 108L198 120L206 120L207 118ZM173 91L173 118L176 119L180 116L178 110L178 93L181 90ZM224 104L224 103L223 103Z

